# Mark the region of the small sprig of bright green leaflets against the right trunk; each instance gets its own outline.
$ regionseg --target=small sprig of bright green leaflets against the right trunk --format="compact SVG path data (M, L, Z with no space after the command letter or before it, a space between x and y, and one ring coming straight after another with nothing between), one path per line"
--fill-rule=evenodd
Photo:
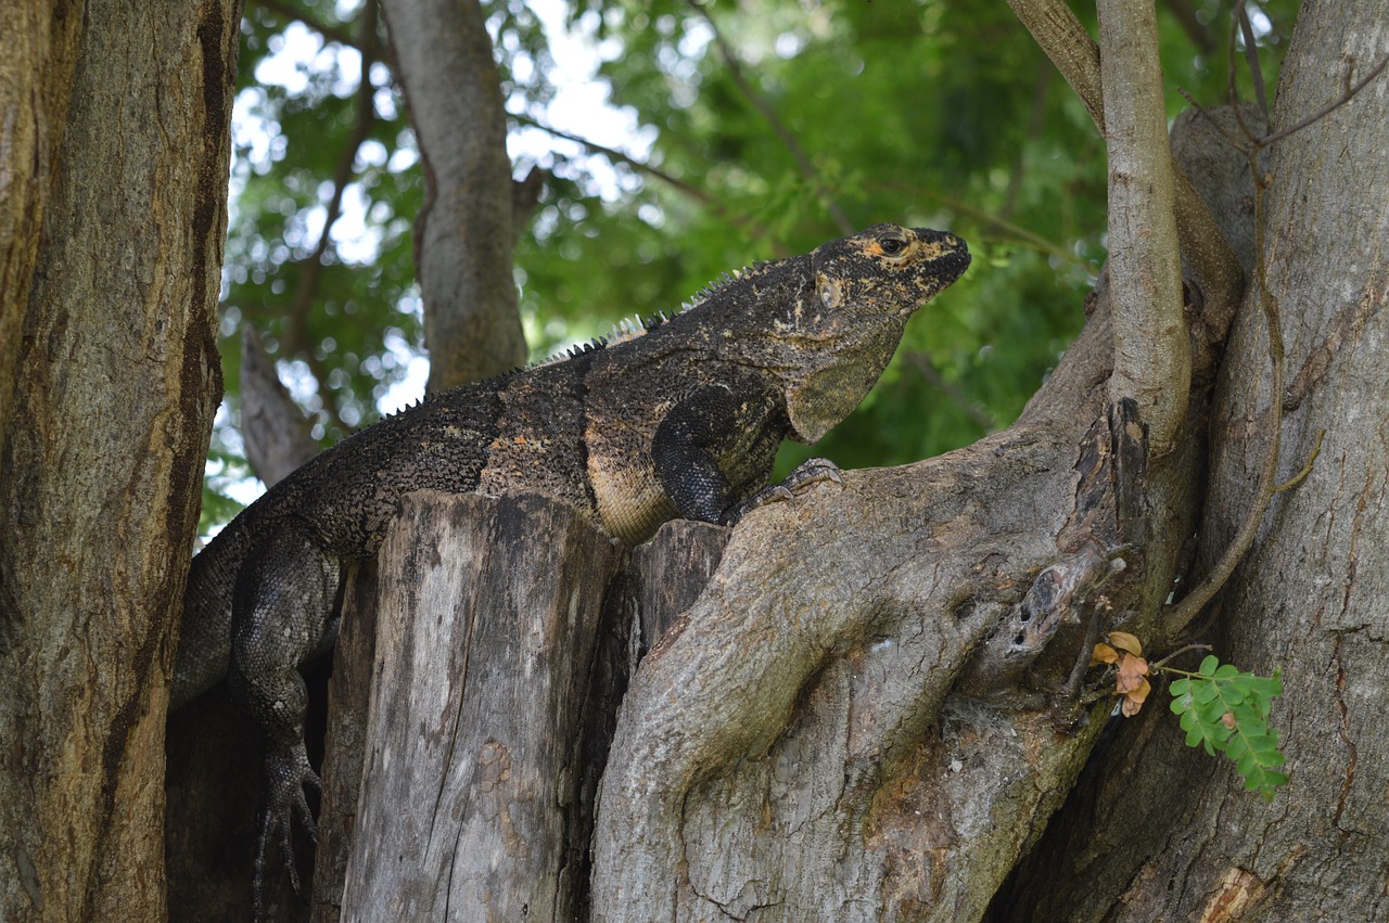
M1214 655L1206 657L1196 673L1164 669L1182 675L1171 684L1171 709L1181 716L1186 745L1225 754L1245 777L1245 788L1272 801L1288 783L1278 770L1283 765L1278 731L1268 726L1272 700L1283 691L1279 673L1254 676Z

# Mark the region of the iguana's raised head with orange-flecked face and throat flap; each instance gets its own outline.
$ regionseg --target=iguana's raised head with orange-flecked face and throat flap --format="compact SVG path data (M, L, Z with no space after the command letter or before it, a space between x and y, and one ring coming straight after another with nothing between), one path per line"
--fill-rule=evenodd
M792 436L813 443L853 411L888 366L911 314L970 265L960 237L875 225L808 254L800 291L775 318L775 371Z

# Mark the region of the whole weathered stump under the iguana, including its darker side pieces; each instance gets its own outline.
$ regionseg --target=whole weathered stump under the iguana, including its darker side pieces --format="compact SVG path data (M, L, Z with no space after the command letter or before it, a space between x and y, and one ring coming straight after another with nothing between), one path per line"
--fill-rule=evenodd
M583 919L628 675L726 536L672 523L626 568L539 497L407 498L344 602L314 919Z

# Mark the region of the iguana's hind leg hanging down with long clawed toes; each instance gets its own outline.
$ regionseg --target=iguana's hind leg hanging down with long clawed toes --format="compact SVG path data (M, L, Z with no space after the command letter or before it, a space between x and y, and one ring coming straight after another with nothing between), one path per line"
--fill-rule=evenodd
M315 841L304 786L321 781L304 748L308 693L299 668L324 647L342 564L293 525L276 529L242 565L232 600L231 693L265 734L253 912L265 912L271 842L278 842L296 894L294 819ZM272 879L269 879L272 880Z

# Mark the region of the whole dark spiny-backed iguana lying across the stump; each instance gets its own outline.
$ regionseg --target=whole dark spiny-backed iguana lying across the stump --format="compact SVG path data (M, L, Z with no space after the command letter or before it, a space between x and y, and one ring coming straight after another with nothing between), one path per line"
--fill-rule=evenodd
M314 831L299 669L332 644L342 575L404 494L539 493L632 544L679 516L732 525L836 472L811 459L767 486L782 439L813 443L854 409L911 314L968 265L953 235L876 225L725 275L611 341L429 396L243 509L193 559L172 706L225 676L267 738L257 912L269 842L299 890L294 816Z

